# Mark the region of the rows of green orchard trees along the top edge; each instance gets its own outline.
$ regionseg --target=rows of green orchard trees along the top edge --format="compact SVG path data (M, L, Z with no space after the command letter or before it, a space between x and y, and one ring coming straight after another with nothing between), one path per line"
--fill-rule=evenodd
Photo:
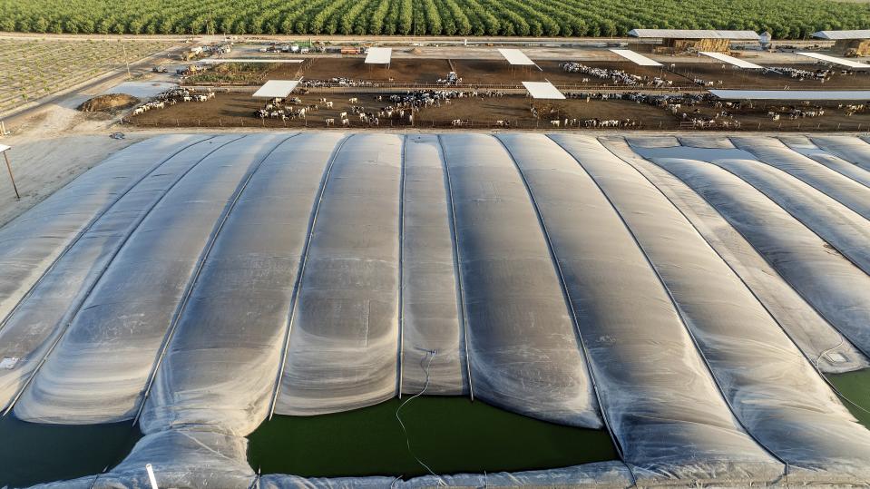
M870 25L828 0L0 0L0 30L70 34L625 35L751 29L800 39Z

